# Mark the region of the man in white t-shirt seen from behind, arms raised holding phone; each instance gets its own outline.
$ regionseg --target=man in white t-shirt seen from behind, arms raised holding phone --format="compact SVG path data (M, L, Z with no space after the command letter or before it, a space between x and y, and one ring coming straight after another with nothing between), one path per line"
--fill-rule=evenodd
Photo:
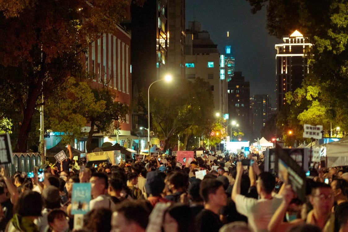
M248 224L255 232L266 232L272 215L282 203L282 198L279 195L272 197L275 177L269 172L260 173L259 179L256 181L256 189L260 199L247 198L240 194L243 171L242 162L238 162L237 176L232 189L232 200L236 203L238 213L248 218Z

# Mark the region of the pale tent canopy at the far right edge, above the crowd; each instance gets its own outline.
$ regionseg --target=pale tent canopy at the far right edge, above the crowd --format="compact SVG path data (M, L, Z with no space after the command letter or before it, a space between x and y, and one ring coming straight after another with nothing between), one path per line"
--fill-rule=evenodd
M348 165L348 137L325 144L327 167Z

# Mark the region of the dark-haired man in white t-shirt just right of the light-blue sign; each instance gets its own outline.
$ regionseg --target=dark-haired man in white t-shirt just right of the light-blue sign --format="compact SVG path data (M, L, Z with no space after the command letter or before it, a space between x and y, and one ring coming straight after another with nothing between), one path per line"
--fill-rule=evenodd
M105 194L108 191L108 176L104 173L93 173L89 179L91 184L91 195L92 200L89 202L89 210L97 208L107 208L114 210L115 204Z

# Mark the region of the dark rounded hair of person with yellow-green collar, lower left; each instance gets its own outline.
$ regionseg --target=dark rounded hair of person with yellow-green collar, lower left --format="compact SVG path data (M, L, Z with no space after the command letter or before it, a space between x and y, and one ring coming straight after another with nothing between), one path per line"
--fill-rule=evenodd
M41 216L42 205L40 193L26 190L19 195L13 212L21 216Z

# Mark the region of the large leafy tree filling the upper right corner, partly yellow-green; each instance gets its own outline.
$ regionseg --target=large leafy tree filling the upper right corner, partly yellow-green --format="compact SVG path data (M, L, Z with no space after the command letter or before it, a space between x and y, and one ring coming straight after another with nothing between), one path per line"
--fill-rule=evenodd
M267 28L271 35L282 38L283 35L288 35L297 29L314 45L307 51L307 56L312 81L320 87L321 96L310 105L302 104L302 111L297 111L301 114L298 122L314 123L318 121L317 116L325 114L326 121L321 123L327 124L327 120L330 120L342 128L347 128L348 2L339 0L249 0L249 2L253 7L253 13L267 4Z

